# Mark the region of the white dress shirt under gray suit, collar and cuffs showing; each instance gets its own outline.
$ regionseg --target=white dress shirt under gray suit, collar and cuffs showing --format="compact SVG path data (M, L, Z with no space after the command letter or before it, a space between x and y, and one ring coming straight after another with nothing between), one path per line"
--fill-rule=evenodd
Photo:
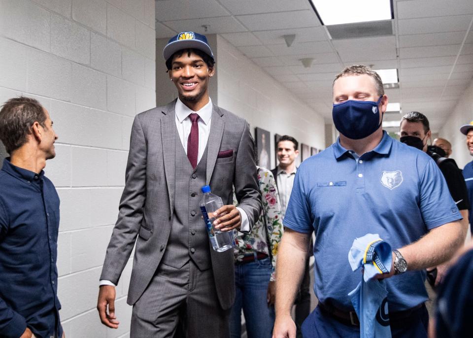
M187 139L191 133L192 122L189 118L191 113L199 114L199 120L197 123L199 125L199 153L197 155L197 163L202 159L202 155L205 152L207 146L208 135L210 134L210 123L212 121L212 100L208 99L208 103L205 104L199 111L193 111L187 105L182 103L181 100L177 99L175 105L176 111L176 127L177 133L179 134L179 139L181 140L184 151L187 155ZM250 221L248 220L248 215L245 210L240 207L236 207L240 212L241 217L241 226L240 231L248 233L250 231ZM202 225L204 226L204 224ZM113 285L116 286L109 280L101 280L99 285Z

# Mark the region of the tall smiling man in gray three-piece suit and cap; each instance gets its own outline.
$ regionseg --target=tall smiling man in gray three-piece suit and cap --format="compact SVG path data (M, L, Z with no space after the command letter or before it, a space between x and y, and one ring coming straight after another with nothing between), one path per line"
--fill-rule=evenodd
M253 139L245 120L208 97L215 68L205 36L177 34L163 53L178 99L135 117L97 308L104 325L118 327L115 285L136 242L131 337L172 337L178 322L187 337L229 337L233 250L211 249L199 200L209 184L227 204L216 227L251 231L261 211Z

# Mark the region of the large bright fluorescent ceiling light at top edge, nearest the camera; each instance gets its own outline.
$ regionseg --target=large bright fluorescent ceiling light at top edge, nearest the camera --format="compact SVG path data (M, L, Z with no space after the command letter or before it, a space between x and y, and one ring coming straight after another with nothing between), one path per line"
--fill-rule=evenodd
M391 20L390 0L310 0L323 25Z

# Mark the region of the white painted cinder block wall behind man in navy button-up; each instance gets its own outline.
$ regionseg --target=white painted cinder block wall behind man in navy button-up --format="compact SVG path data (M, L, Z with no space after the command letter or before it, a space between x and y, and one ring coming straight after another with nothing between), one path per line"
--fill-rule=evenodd
M120 329L102 326L95 307L133 117L155 106L155 86L154 0L0 0L0 101L38 99L59 135L45 172L61 198L59 298L68 338L128 336L131 264L117 288Z

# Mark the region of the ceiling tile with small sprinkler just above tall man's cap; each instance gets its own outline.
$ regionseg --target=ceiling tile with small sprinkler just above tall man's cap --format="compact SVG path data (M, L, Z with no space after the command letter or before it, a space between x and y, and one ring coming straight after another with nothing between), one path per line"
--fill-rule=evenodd
M247 31L243 25L231 16L164 21L163 23L176 32L191 31L200 34L223 34ZM203 25L208 26L207 32L205 32L205 29L202 27Z

